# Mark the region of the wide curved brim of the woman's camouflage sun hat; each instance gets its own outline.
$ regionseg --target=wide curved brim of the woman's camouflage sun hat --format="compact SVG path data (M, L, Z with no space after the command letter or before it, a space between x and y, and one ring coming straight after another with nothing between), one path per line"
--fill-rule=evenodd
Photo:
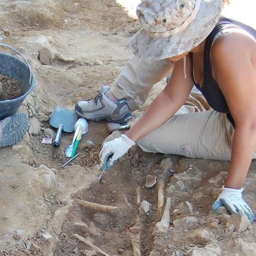
M205 40L219 21L222 0L203 0L188 27L169 37L150 37L141 28L129 41L134 55L147 60L163 60L192 50Z

